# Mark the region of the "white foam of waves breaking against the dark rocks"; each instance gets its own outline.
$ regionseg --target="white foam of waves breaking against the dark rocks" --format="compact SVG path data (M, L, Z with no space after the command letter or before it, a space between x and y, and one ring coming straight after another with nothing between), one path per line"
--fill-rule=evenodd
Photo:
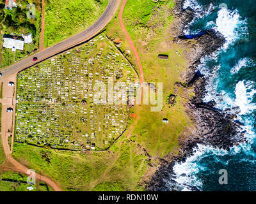
M200 4L196 1L186 0L184 2L183 8L186 9L191 7L194 11L196 11L196 17L193 20L195 22L196 18L202 17L202 11L204 10ZM210 13L211 11L209 11ZM184 34L191 33L189 31L189 26L193 24L191 22L184 31ZM227 8L221 8L218 11L218 18L216 22L208 22L207 29L215 29L215 31L219 31L226 39L226 43L223 46L223 50L227 50L229 45L234 43L236 40L239 40L241 37L246 36L248 34L247 31L247 20L243 20L239 15L237 10L231 11L227 10ZM220 108L221 110L225 110L227 108L234 108L238 106L241 110L239 113L237 120L243 122L244 129L246 130L247 138L255 138L255 133L253 132L253 119L244 119L243 115L246 113L252 112L255 110L256 105L252 103L253 95L256 93L254 88L254 83L251 81L241 81L236 84L236 98L234 96L230 96L225 91L217 92L216 87L218 85L218 70L220 69L220 65L214 66L213 68L209 68L207 66L207 61L209 59L217 59L220 50L214 52L211 56L202 57L201 64L198 67L200 72L204 74L207 78L207 82L205 85L206 94L204 96L204 102L209 102L211 100L216 101L216 108ZM237 73L239 69L244 66L255 66L252 65L252 61L250 59L241 59L237 62L236 66L232 68L230 71L232 74ZM251 140L250 142L253 142ZM225 154L239 154L240 152L252 152L251 143L241 143L239 146L234 146L230 150L230 152L221 149L215 149L211 146L200 145L198 144L198 148L194 149L194 153L192 156L186 158L184 163L176 163L173 166L173 172L175 173L175 181L182 187L182 191L191 191L189 186L201 188L203 183L201 180L197 178L198 172L206 171L205 166L203 164L198 165L198 161L203 161L203 159L209 155L214 155L214 160L216 162L221 162L225 165L225 161L221 161L221 157ZM252 154L254 154L252 152ZM256 157L256 155L253 155Z

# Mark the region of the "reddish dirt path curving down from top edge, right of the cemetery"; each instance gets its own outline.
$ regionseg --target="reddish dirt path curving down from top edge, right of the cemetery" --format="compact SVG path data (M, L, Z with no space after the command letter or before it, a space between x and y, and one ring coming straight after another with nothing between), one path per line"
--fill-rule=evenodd
M120 26L121 26L121 29L122 31L124 32L125 34L125 37L127 38L129 44L131 45L131 48L132 48L132 52L134 53L135 57L136 57L136 60L138 62L138 65L139 65L139 68L140 68L140 84L142 85L143 82L144 82L144 75L143 75L143 68L142 68L142 64L141 64L141 61L140 61L140 56L136 50L136 47L134 46L133 42L132 42L132 39L129 35L129 33L127 32L127 30L125 29L125 25L124 25L124 21L123 21L123 13L124 13L124 8L125 8L125 4L127 3L127 0L124 0L122 2L122 6L120 8L120 12L119 12L119 22L120 22ZM141 94L142 94L142 91L141 91Z

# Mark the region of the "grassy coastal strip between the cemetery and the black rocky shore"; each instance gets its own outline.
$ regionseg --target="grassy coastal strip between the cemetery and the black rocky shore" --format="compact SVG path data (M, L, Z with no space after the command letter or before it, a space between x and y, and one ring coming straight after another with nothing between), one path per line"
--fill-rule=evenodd
M179 81L180 73L186 70L186 59L182 55L182 47L173 44L169 34L172 26L173 1L132 1L128 0L124 10L124 24L136 46L145 82L163 82L163 109L150 112L149 105L135 106L130 121L134 140L145 147L152 156L163 157L179 152L180 135L191 126L191 120L184 110L186 94L182 88L175 90L175 82ZM108 25L107 34L113 41L122 41L120 49L137 67L132 54L127 54L131 47L119 29L118 18L115 17ZM177 52L180 54L177 54ZM169 55L167 61L158 59L159 54ZM177 95L174 106L168 105L168 96ZM169 122L163 123L163 118Z

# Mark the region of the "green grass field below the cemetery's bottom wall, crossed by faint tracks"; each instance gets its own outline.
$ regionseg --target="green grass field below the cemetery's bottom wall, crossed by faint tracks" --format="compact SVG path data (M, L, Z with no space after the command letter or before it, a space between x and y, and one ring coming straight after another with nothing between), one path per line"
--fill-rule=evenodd
M137 143L122 136L108 151L71 152L14 143L12 156L44 172L68 191L141 190L148 159ZM107 187L108 186L108 187Z

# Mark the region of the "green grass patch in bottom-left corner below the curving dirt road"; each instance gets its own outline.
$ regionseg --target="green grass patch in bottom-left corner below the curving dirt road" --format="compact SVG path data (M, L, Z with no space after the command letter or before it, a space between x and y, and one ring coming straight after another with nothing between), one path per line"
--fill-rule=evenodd
M45 184L36 182L35 185L29 185L26 182L26 175L6 171L0 174L0 191L29 191L29 186L33 186L31 191L52 191L51 187Z

